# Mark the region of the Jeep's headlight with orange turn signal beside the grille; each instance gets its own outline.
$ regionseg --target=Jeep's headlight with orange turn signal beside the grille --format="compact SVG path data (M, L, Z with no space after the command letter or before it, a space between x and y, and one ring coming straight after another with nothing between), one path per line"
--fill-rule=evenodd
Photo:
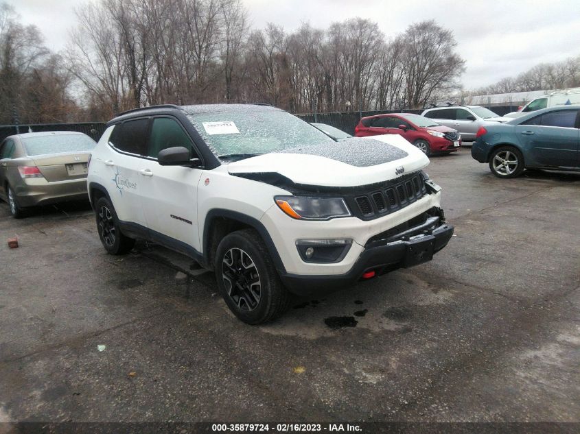
M342 197L276 196L274 200L293 219L328 220L351 215Z

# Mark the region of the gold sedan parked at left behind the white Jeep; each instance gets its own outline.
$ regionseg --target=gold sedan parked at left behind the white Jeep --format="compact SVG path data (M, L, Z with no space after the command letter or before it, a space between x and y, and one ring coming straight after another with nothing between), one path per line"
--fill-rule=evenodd
M16 219L25 208L88 199L86 173L96 143L80 132L31 132L0 145L0 198Z

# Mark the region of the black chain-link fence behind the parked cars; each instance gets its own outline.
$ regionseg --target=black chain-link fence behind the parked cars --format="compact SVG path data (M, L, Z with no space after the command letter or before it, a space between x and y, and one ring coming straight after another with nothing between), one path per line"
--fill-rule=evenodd
M495 106L490 109L500 116L517 110L512 106ZM333 112L333 113L299 113L297 117L306 122L326 123L349 134L354 134L354 128L361 117L373 116L375 114L386 113L416 113L421 114L422 109L411 110L371 110L365 112ZM41 123L23 125L0 125L0 142L12 134L23 134L25 132L43 131L78 131L90 136L98 141L105 130L104 122L82 122L82 123Z

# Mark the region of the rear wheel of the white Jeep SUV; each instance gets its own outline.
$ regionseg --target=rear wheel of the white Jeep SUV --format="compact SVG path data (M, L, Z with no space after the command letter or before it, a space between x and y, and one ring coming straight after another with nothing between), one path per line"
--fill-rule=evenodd
M95 218L99 238L108 254L126 254L133 248L135 239L127 237L121 232L115 208L106 197L97 200Z

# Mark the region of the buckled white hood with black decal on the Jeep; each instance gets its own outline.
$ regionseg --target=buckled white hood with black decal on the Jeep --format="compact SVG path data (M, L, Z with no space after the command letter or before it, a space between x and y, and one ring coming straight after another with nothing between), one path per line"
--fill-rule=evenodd
M429 159L399 134L353 137L232 162L227 171L279 173L294 184L349 187L375 184L423 169Z

